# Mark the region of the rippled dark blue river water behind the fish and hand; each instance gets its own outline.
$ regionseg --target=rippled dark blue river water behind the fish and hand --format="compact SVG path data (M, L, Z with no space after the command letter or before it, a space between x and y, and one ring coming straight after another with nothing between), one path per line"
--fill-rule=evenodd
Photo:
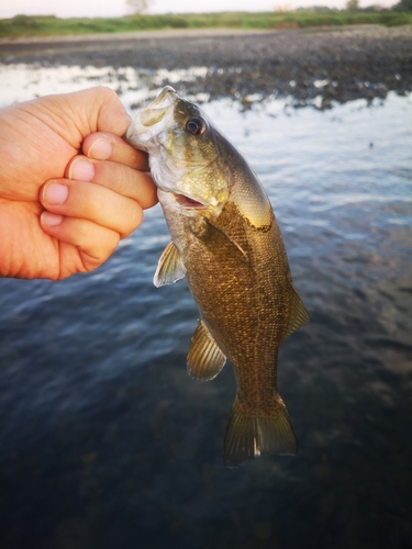
M127 70L2 66L0 104L179 91ZM185 281L152 283L156 206L93 273L0 280L1 547L410 547L412 97L197 99L265 186L311 315L279 358L299 453L223 467L234 376L186 373L197 310Z

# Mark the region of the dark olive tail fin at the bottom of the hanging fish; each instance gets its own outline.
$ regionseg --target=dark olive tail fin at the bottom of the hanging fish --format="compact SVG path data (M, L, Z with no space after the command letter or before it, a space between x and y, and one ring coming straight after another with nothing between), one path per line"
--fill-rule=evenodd
M236 397L224 438L224 464L238 467L261 453L293 455L298 451L288 412L279 397L270 416L246 415Z

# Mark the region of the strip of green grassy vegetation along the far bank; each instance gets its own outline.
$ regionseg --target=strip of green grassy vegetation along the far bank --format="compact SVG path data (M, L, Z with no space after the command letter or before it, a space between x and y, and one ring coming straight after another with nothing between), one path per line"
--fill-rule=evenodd
M402 0L405 4L411 1ZM55 15L15 15L11 19L0 20L0 37L120 33L160 29L270 30L353 24L380 24L386 26L412 24L412 11L297 10L260 13L130 15L111 19L58 19Z

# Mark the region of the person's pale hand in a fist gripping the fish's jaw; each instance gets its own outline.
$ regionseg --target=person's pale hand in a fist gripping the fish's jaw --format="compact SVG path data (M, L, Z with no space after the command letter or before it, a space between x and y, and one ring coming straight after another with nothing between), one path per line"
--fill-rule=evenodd
M114 91L0 109L0 277L62 280L103 264L157 202Z

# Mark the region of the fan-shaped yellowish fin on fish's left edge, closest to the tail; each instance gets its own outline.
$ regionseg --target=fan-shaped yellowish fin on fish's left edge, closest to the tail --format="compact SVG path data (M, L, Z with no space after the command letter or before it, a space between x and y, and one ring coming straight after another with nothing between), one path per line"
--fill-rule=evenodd
M222 370L225 361L226 357L212 334L203 322L199 321L188 352L188 373L197 381L210 381Z

